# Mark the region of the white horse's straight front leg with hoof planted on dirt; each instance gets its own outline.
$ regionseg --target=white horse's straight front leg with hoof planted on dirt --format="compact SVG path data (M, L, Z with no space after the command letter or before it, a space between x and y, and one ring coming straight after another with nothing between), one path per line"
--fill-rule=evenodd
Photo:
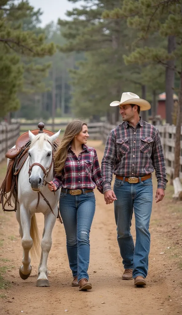
M53 209L54 213L57 213L56 209ZM39 276L37 279L37 287L49 287L49 281L47 278L47 260L48 254L52 245L52 230L56 221L56 215L53 215L52 212L44 215L44 236L41 242L42 247L42 263L39 268Z

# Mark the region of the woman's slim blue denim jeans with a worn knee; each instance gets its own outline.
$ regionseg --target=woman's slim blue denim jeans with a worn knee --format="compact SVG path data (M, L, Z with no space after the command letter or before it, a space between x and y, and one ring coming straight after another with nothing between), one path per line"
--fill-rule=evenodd
M66 232L68 260L73 277L88 279L89 234L95 213L94 192L81 195L60 193L60 215Z

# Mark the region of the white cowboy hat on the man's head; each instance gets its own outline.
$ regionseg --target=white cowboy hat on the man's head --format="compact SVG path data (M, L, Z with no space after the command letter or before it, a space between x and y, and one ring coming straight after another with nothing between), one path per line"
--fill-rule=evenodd
M135 104L140 106L140 111L148 111L151 108L151 104L146 100L140 99L138 95L131 92L122 93L121 102L115 100L110 106L118 106L124 104Z

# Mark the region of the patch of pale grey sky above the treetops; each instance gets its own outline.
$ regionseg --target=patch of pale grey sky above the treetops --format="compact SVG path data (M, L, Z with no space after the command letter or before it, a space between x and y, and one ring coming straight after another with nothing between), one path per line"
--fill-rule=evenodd
M79 3L71 3L67 0L29 0L30 5L35 9L41 8L43 14L41 16L42 24L45 26L51 21L57 22L58 18L68 19L65 16L67 10L72 8L79 7L80 4L83 4L83 1Z

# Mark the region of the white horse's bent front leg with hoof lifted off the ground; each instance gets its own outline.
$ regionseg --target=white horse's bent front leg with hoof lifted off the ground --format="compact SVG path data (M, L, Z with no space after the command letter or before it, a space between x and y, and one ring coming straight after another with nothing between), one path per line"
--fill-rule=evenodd
M20 219L23 230L23 237L21 239L21 244L23 247L23 265L20 266L19 274L20 277L25 280L31 274L29 251L32 247L33 241L30 236L31 217L23 205L20 206Z

